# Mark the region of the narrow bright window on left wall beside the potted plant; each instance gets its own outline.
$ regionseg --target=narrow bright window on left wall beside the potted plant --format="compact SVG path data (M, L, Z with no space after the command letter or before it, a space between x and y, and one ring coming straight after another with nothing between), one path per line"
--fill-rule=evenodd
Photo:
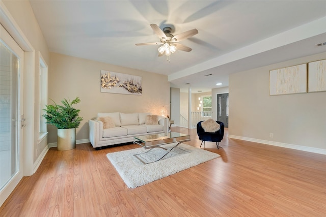
M43 117L45 105L47 104L47 65L40 55L40 70L39 70L39 139L42 139L46 133L46 123Z

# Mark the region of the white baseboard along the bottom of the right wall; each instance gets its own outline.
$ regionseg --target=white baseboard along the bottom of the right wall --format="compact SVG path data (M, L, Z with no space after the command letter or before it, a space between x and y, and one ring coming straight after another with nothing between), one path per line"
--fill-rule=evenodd
M308 151L308 152L313 152L313 153L326 154L326 149L322 149L322 148L307 147L307 146L302 146L302 145L293 145L293 144L287 144L287 143L282 143L282 142L273 142L273 141L268 141L268 140L254 139L254 138L234 136L234 135L229 135L228 138L239 139L239 140L250 141L250 142L257 142L257 143L262 143L262 144L266 144L266 145L274 145L274 146L278 146L278 147L291 148L291 149L295 149L295 150Z

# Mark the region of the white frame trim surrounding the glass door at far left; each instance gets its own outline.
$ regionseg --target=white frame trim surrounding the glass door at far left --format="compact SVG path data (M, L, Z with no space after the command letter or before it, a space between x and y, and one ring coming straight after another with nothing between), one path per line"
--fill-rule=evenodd
M33 112L34 107L29 109L30 105L34 105L34 99L30 101L26 101L26 97L29 96L29 92L26 93L25 90L33 89L34 90L34 82L26 83L26 78L31 76L34 78L34 53L35 50L32 45L29 43L17 23L14 21L13 17L5 7L4 3L0 1L0 23L12 37L12 39L17 43L17 45L24 51L24 61L22 70L20 73L20 79L22 82L20 83L20 88L22 88L23 99L20 100L20 115L24 114L24 118L26 120L26 127L23 129L22 135L22 145L23 147L19 147L19 172L16 173L12 179L5 185L5 187L0 192L0 206L5 202L5 200L9 197L9 195L13 192L14 188L17 186L22 176L25 176L26 173L30 173L33 167L33 140L30 137L33 137ZM21 106L23 105L23 106ZM30 135L25 136L25 135Z

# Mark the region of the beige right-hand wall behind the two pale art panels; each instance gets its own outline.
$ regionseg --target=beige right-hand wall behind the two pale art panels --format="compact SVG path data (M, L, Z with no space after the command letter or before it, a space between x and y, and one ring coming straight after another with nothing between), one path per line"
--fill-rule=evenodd
M269 70L325 58L321 53L232 74L229 135L326 149L326 92L269 96Z

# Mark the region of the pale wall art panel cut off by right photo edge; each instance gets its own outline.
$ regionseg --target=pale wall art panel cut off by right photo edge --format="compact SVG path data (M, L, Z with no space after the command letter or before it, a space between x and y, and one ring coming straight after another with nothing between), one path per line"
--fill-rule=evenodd
M308 63L308 92L326 91L326 59Z

